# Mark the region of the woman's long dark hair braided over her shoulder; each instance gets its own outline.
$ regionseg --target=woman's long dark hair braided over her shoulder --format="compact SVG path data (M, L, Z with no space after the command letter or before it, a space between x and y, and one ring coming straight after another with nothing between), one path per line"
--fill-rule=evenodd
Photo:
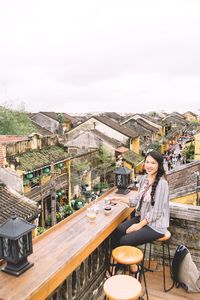
M156 192L156 187L158 185L160 178L164 175L164 177L166 179L166 175L165 175L165 170L164 170L164 166L163 166L162 154L155 150L149 151L145 156L145 161L148 156L153 157L153 159L155 159L158 163L158 171L157 171L156 178L155 178L154 183L151 188L151 205L154 206L154 204L155 204L154 196L155 196L155 192Z

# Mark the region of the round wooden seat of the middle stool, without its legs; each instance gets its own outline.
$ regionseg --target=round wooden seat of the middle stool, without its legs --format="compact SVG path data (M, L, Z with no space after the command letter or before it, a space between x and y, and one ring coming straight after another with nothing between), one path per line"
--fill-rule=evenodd
M119 246L112 251L112 257L120 264L132 265L142 261L143 253L133 246Z

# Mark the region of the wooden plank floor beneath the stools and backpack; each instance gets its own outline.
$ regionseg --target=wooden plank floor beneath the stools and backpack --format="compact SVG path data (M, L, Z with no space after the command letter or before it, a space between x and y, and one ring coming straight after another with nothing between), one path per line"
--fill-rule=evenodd
M171 291L165 293L163 291L162 266L152 272L146 272L147 288L149 300L197 300L200 299L200 293L187 293L183 288L174 287ZM172 284L169 277L169 269L167 269L167 288ZM146 296L144 297L146 300Z

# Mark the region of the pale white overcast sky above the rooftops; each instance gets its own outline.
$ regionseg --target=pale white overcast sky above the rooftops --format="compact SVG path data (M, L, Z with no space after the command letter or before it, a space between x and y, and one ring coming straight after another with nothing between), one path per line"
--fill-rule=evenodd
M197 112L200 1L0 0L4 103L32 112Z

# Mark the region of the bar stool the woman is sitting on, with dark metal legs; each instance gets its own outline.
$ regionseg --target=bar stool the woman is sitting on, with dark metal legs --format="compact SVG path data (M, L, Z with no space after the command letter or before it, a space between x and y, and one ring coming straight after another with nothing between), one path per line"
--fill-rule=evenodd
M162 264L163 264L163 286L164 286L164 291L168 292L172 289L172 287L170 288L166 288L166 280L165 280L165 245L167 246L167 250L168 250L168 260L169 260L169 267L170 267L170 274L172 273L171 270L171 257L170 257L170 249L169 249L169 241L171 238L171 233L169 232L169 230L167 230L167 232L165 233L165 235L159 239L157 239L156 241L150 242L150 246L149 246L149 264L148 264L148 268L145 268L146 271L151 271L153 272L153 270L151 269L151 245L154 242L161 242L162 245ZM145 254L146 254L146 246L147 243L144 246L144 259L145 259Z

